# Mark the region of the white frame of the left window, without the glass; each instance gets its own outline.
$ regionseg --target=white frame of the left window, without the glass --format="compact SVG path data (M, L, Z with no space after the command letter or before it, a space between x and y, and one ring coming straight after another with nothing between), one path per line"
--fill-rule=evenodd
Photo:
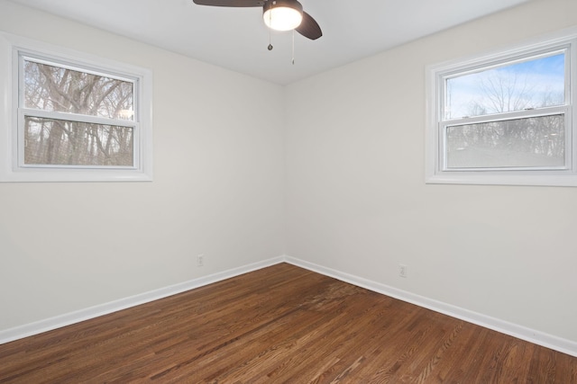
M133 121L69 116L23 108L23 58L130 81L134 85ZM0 183L2 182L148 182L152 180L152 75L142 67L97 58L37 40L0 32ZM133 129L133 166L24 165L24 115L112 124Z

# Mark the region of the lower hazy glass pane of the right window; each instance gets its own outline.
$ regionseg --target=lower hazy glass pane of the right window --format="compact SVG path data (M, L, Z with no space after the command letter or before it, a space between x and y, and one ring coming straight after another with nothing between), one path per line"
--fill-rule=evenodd
M446 128L447 168L565 165L563 114Z

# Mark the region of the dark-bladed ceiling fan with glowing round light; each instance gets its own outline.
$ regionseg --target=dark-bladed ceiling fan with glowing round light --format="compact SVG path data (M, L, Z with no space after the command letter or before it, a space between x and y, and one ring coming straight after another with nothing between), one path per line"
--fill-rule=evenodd
M298 31L310 40L323 36L321 27L313 17L303 11L297 0L192 0L198 5L249 7L261 6L262 19L271 29L277 31Z

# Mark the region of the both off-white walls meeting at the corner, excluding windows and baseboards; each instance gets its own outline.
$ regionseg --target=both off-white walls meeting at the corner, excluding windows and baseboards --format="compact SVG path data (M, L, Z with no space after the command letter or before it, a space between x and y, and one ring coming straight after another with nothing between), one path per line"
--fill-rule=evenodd
M425 67L575 24L534 0L281 87L0 0L154 76L154 182L0 183L0 331L286 254L577 342L577 189L424 183Z

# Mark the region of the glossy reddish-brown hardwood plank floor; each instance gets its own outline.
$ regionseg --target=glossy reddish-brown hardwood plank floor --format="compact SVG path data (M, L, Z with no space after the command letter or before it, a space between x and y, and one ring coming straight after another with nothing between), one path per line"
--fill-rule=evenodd
M281 263L0 345L0 383L577 383L577 358Z

